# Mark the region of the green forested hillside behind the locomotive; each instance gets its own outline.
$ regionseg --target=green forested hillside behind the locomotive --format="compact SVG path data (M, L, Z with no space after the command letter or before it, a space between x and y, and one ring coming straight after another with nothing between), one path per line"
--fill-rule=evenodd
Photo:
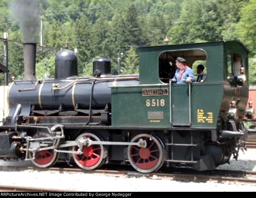
M138 73L137 47L166 45L166 36L168 44L240 40L251 50L250 56L255 55L256 0L44 0L38 4L45 19L45 46L77 48L80 76L92 75L97 57L110 58L112 73L117 74L118 52L123 53L123 73ZM8 32L9 39L23 42L9 6L9 0L0 2L0 37ZM36 38L39 45L40 35ZM46 72L46 57L54 76L55 53L38 51L38 78ZM250 62L251 73L253 65ZM22 47L9 44L9 68L9 76L23 77ZM251 85L256 84L254 76Z

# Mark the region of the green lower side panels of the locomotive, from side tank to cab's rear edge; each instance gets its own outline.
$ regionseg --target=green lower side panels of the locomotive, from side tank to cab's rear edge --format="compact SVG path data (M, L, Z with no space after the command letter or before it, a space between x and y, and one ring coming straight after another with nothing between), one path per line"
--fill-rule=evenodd
M167 88L167 96L143 96L143 89ZM218 96L218 97L216 97ZM192 83L191 127L216 126L223 85ZM147 100L150 106L147 106ZM164 100L164 106L161 106ZM169 84L166 86L112 87L112 126L190 126L188 85L172 85L172 123L170 121ZM209 105L209 101L214 101ZM154 105L155 102L155 105ZM154 106L153 106L154 105ZM199 111L199 112L198 112ZM162 119L149 119L150 112L163 112Z

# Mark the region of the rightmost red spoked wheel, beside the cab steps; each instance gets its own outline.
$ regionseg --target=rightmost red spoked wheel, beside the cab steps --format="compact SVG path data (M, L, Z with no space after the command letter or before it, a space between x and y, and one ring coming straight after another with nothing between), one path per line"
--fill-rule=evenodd
M128 159L130 164L139 172L153 172L161 168L163 160L163 143L158 137L149 134L139 134L131 142L138 142L139 139L146 140L146 148L135 145L128 146Z

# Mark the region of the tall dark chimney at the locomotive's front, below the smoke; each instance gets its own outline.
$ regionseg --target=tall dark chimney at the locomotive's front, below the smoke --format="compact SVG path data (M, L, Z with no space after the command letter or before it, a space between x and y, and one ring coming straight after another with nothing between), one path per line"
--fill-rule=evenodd
M23 43L24 80L36 79L36 43Z

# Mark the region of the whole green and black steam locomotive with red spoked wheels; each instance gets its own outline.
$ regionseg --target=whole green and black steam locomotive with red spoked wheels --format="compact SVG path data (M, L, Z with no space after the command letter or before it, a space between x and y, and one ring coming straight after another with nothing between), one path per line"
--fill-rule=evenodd
M24 43L25 77L9 86L0 126L0 158L53 166L60 154L83 169L129 164L139 172L187 165L212 170L246 149L248 49L237 41L139 48L138 75L111 75L94 60L78 77L77 56L64 49L55 77L35 76L36 44ZM171 83L177 57L206 61L205 81Z

